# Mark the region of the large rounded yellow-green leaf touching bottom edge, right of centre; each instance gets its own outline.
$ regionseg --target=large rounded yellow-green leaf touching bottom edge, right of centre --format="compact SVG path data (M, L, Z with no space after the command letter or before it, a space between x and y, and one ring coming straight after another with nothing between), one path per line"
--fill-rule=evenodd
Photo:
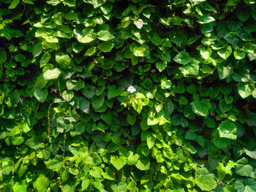
M217 187L214 174L209 174L206 168L199 168L195 172L195 183L203 191L211 191Z

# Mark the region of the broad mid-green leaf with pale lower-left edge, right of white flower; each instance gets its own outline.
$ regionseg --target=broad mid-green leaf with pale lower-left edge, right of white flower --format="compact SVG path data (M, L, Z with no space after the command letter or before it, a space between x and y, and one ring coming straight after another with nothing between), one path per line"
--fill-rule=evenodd
M191 103L192 110L195 114L200 116L207 116L208 110L211 107L210 99L202 99Z

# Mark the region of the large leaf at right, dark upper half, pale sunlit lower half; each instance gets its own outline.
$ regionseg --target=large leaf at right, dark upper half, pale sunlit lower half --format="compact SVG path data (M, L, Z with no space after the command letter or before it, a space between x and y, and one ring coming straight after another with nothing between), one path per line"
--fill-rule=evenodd
M224 120L219 124L219 137L225 137L227 139L236 139L236 124L230 120Z

